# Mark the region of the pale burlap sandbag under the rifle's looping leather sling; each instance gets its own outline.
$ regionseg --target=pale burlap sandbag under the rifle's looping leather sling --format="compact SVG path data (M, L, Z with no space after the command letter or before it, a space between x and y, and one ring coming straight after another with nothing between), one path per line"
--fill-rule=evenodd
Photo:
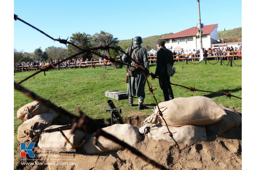
M52 125L45 128L44 130L53 129L60 126L61 125ZM71 133L71 130L63 130L63 133L66 135L68 140L74 145L80 145L81 143L83 143L84 140L88 140L90 137L90 134L86 134L81 130L75 130L73 134ZM66 149L66 150L75 149L77 147L77 146L70 145L65 140L65 138L60 133L60 131L41 134L40 139L38 141L38 146L41 149Z

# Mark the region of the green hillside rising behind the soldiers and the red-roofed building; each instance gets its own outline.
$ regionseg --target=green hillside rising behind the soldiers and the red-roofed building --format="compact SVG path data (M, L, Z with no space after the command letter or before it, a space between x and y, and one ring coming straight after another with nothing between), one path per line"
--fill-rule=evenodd
M154 35L149 36L146 38L142 37L143 44L142 46L145 47L148 51L153 49L156 49L156 42L158 39L171 35L173 33L166 33L162 35ZM226 31L218 31L218 39L229 39L229 40L238 40L242 41L242 27L240 28L234 28ZM119 40L118 46L122 47L124 50L131 44L131 39L129 40Z

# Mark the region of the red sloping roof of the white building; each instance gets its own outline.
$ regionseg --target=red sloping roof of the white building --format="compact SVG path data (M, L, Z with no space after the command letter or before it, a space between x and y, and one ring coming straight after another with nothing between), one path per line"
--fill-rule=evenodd
M204 25L204 28L202 28L203 34L202 35L207 35L212 32L212 30L217 27L218 24L212 24L212 25ZM197 27L191 27L188 29L185 29L183 31L174 33L172 35L163 37L161 39L170 39L170 38L177 38L177 37L188 37L188 36L195 36L197 34L198 28Z

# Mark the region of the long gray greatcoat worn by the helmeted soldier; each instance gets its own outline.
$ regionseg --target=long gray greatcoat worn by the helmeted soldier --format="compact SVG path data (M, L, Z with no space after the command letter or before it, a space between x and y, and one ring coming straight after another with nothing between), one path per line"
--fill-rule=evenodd
M140 44L133 44L133 50L135 50L136 54L139 49L139 63L143 64L146 68L146 72L148 72L148 58L147 58L147 50L144 47L141 47ZM129 54L130 46L126 49L126 53ZM122 56L122 60L127 63L129 57L127 55ZM132 59L137 61L137 58L132 52ZM131 64L134 64L133 61L131 61ZM129 83L127 83L127 94L129 96L135 96L137 95L139 99L145 98L145 77L143 75L143 72L141 70L137 70L133 72L134 76L129 76ZM144 82L144 83L143 83Z

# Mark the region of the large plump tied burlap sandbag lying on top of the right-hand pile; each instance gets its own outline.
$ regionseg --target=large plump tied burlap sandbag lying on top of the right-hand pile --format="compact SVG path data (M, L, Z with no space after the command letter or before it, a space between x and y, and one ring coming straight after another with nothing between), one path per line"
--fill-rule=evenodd
M212 99L204 96L176 98L158 104L163 111L167 126L180 127L185 125L207 125L218 122L226 115L225 111ZM144 124L158 122L166 126L161 116L155 113L144 120Z

